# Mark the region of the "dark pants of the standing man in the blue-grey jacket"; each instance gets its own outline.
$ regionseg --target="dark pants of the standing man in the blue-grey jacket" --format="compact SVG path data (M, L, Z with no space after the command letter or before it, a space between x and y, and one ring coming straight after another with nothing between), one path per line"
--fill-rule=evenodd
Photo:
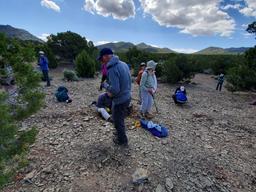
M124 103L113 105L112 115L113 115L114 125L116 128L119 144L127 144L128 143L128 139L127 139L127 136L125 133L124 119L126 116L126 110L129 107L130 102L131 102L131 99L127 100Z

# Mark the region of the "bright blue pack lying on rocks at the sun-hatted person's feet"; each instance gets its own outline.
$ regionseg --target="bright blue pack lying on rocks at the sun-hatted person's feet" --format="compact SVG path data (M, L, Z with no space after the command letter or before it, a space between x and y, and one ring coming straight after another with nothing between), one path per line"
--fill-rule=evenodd
M152 135L156 137L167 137L168 129L162 125L155 124L152 121L140 120L141 127L148 130Z

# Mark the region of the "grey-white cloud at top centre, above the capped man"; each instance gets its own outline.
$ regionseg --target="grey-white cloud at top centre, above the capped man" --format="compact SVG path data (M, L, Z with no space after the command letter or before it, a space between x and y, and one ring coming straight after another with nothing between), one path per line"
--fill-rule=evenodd
M135 16L133 0L85 0L84 10L119 20Z

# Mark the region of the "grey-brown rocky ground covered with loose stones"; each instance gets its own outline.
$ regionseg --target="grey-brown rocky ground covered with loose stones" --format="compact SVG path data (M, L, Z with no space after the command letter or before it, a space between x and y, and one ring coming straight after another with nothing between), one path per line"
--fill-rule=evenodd
M112 143L113 126L88 107L100 93L99 79L64 82L55 76L53 86L44 88L45 107L23 123L39 129L30 165L3 191L256 191L256 107L248 104L253 95L217 92L207 75L193 82L184 106L171 99L175 86L159 84L154 121L169 128L167 138L135 128L130 117L129 148L122 149ZM69 89L71 104L55 101L59 85ZM133 183L140 177L141 184Z

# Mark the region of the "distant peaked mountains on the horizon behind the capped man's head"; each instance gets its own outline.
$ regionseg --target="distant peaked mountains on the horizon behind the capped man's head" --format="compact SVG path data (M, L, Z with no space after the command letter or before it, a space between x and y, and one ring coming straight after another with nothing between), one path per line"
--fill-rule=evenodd
M154 47L151 45L147 45L145 43L140 43L140 44L133 44L130 42L117 42L117 43L106 43L103 45L98 45L97 46L99 49L102 49L104 47L111 48L115 52L127 52L129 48L132 47L137 47L139 50L147 51L150 53L176 53L175 51L168 49L168 48L159 48L159 47Z

